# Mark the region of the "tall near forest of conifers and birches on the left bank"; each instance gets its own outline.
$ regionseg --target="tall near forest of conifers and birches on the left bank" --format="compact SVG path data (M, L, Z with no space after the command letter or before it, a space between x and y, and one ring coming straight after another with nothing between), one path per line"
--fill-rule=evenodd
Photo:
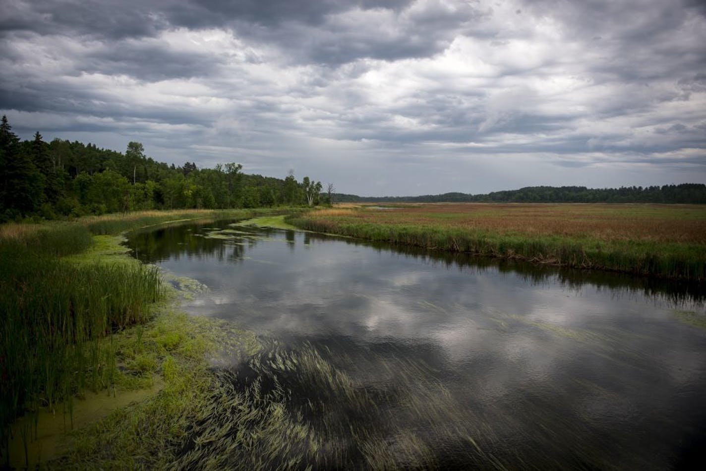
M157 162L143 145L125 153L54 139L37 131L20 141L6 116L0 124L0 222L22 217L80 216L131 210L258 208L330 203L333 184L244 174L240 164L198 168Z

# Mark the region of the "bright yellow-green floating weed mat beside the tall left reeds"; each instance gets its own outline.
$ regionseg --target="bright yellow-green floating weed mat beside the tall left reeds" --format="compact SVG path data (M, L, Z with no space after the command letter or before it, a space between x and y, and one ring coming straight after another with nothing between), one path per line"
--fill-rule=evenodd
M170 343L169 339L178 341ZM68 394L64 400L61 400L59 394L61 390L54 388L53 384L49 387L49 390L57 391L53 410L56 414L64 413L68 416L65 419L66 432L73 429L72 410L75 407L83 407L83 399L90 404L91 398L105 395L105 388L108 388L111 396L116 388L123 392L152 388L152 393L150 396L138 396L145 399L139 406L128 407L128 411L143 412L125 415L125 410L116 410L104 422L89 425L87 429L78 432L76 439L71 440L73 445L62 448L69 458L54 463L43 463L42 466L49 469L124 468L129 467L130 463L140 462L142 455L150 457L149 463L162 463L160 457L164 458L166 455L162 451L168 448L169 443L184 436L188 420L193 417L194 407L200 407L200 401L209 397L210 391L206 388L213 380L206 359L231 359L238 355L253 354L259 348L259 342L252 333L241 330L232 323L188 316L164 307L155 318L150 318L146 323L68 347L65 353L72 355L74 359L61 357L56 358L56 362L48 363L50 375L54 375L56 368L61 368L62 365L75 368L74 371L86 371L86 374L77 378L83 378L85 390L64 390L63 392ZM71 361L75 364L71 365ZM80 362L83 362L83 367ZM92 387L93 382L96 383L95 388ZM35 414L40 409L48 409L45 398L46 393L37 396L36 407L30 414ZM120 394L118 398L121 398ZM85 415L85 412L83 414ZM119 425L105 425L110 424L112 420L118 421ZM125 422L120 422L121 420ZM42 427L41 419L38 426ZM30 467L37 463L36 460L32 461L32 453L37 455L41 451L37 449L41 442L37 444L32 439L36 431L37 424L33 424L31 433L27 434L28 443L25 443L30 447ZM149 436L149 439L145 439L145 436ZM67 438L70 439L71 436ZM113 439L119 445L109 452L110 455L104 454L108 453L107 443ZM91 448L92 446L97 448ZM97 455L93 454L92 458L83 460L81 457L89 453L87 449ZM158 451L156 455L155 451ZM50 451L42 453L44 456L52 456ZM174 455L169 456L173 459ZM8 455L4 455L3 458L5 463L8 463L9 459L11 465L26 466L22 456L8 458ZM101 460L100 466L96 464L96 460Z

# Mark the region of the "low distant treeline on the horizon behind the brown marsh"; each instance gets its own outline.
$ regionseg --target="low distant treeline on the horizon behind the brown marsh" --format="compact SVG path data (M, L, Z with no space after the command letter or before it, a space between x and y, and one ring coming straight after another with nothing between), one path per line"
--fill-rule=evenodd
M688 203L706 204L706 185L621 186L590 189L585 186L527 186L487 194L443 193L424 196L333 195L337 203Z

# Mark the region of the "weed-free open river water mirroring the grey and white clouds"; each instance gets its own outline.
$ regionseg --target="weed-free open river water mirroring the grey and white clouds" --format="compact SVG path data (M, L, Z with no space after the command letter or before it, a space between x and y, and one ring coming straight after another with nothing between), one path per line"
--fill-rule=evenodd
M330 347L359 388L443 385L463 420L482 415L503 439L542 427L590 446L610 436L629 465L631 446L676 447L706 419L705 333L671 315L703 311L700 299L650 295L616 275L580 283L556 269L457 264L311 234L285 242L253 229L232 254L227 242L183 234L176 247L188 256L160 256L161 265L210 287L185 309Z

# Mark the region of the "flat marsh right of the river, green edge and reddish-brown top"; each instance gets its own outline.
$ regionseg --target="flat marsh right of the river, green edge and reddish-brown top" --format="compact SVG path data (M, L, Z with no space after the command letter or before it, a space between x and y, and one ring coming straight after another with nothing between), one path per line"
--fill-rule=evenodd
M291 225L314 232L420 246L426 249L515 258L574 268L614 270L659 278L706 280L706 246L702 242L682 242L678 239L678 235L670 239L666 230L659 238L643 237L642 234L633 234L634 237L630 237L629 231L612 236L608 229L604 232L590 232L588 229L586 232L580 232L571 227L571 222L568 223L569 228L564 229L561 225L555 224L556 219L552 220L550 216L546 217L547 225L560 226L559 229L566 233L551 227L545 232L537 228L523 231L522 227L508 224L508 218L511 215L503 215L504 213L500 213L499 210L496 211L496 216L491 217L490 209L486 208L469 213L470 216L458 212L436 212L437 208L429 205L426 212L423 208L413 208L413 210L400 208L399 212L369 209L347 210L347 212L329 210L330 215L326 214L327 210L323 210L289 216L285 220ZM628 209L630 211L626 212ZM624 217L639 216L644 213L664 216L654 208L628 209L623 208ZM661 208L658 209L661 210ZM600 217L611 215L615 220L611 220L608 228L616 227L616 231L622 230L619 227L620 218L617 216L620 215L619 209L610 208L597 214ZM702 238L702 234L693 232L704 219L703 211L698 211L698 214L700 219L695 221L696 225L688 226L691 232L685 232L685 238L694 240ZM561 213L557 213L556 217L560 215ZM525 214L522 217L528 216ZM599 221L600 217L590 220L587 227L598 224L594 221ZM680 221L690 219L689 213L688 217ZM532 217L528 217L528 220L532 220ZM578 221L578 219L575 220ZM664 222L664 220L661 221ZM633 223L635 223L634 220ZM639 224L639 227L645 228L649 236L650 220Z

